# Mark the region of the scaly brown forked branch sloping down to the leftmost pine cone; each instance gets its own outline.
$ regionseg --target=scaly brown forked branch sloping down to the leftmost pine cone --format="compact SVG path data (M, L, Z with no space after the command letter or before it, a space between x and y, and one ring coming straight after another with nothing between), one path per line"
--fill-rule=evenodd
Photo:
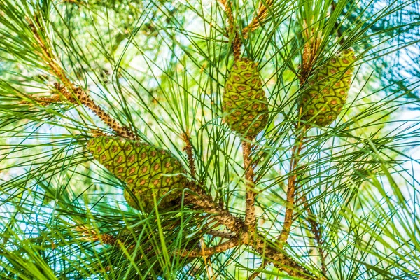
M34 18L36 24L38 25L38 27L40 27L41 24L38 22L38 17L35 15ZM41 36L41 34L38 33L38 29L36 29L34 22L32 22L30 19L27 19L27 21L29 22L29 28L34 34L36 43L40 47L40 51L38 52L39 57L41 57L45 64L48 65L50 73L56 76L57 79L60 80L64 85L60 85L59 83L54 84L57 91L60 94L62 94L62 97L64 97L68 102L71 102L72 104L78 105L78 102L80 102L80 104L87 106L87 108L92 110L93 113L95 113L104 123L106 123L106 125L108 125L120 137L137 140L138 137L136 134L134 134L134 132L132 132L128 127L120 125L120 123L118 123L115 119L109 116L109 113L106 113L101 107L95 104L94 101L84 90L82 90L80 87L76 87L75 85L73 85L73 83L71 83L69 78L67 78L64 69L62 69L62 67L59 66L59 64L57 63L57 59L50 47L50 43L48 42L47 38L43 38L43 36ZM55 94L52 97L41 97L41 99L39 99L39 102L41 102L41 104L59 101L60 97L58 94Z

